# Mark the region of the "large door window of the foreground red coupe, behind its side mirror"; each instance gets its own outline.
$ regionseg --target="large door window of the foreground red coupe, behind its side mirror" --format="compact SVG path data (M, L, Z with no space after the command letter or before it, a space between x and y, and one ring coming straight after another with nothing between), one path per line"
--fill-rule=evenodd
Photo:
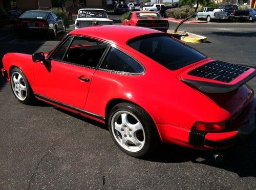
M74 37L63 61L96 68L107 46L90 38Z

